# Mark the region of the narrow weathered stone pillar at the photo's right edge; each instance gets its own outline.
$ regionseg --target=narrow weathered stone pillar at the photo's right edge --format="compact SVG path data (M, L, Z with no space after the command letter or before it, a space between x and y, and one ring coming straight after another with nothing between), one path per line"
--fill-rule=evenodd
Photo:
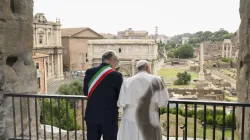
M237 66L237 94L239 102L250 103L250 1L240 1L240 47ZM250 109L247 108L245 112L245 129L244 139L250 139ZM242 112L241 108L237 109L237 128L238 139L241 139L242 133Z

